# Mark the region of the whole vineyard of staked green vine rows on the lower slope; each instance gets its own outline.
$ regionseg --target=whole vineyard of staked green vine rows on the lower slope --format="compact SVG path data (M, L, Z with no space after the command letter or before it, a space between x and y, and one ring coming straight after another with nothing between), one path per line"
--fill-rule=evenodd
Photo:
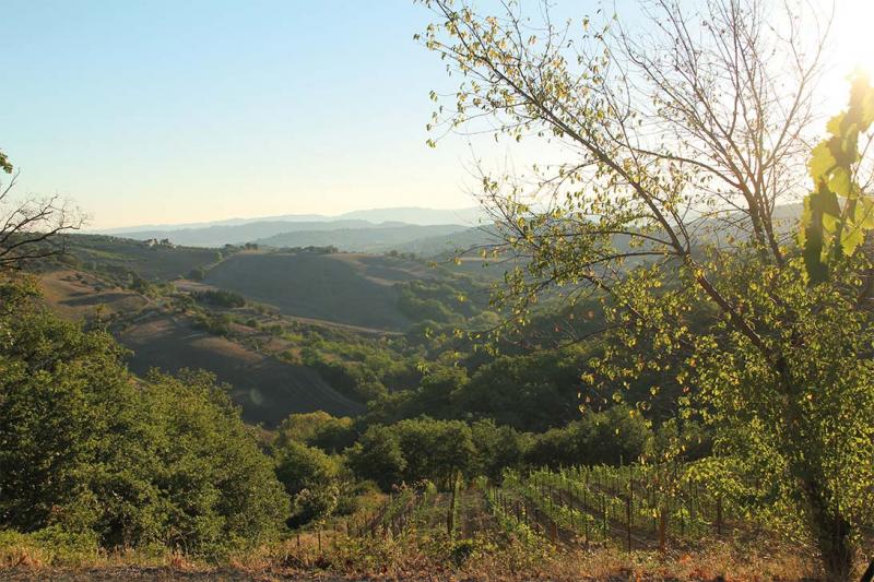
M742 520L695 475L689 466L599 465L507 471L499 485L481 477L448 492L432 484L401 487L369 511L304 533L304 550L300 533L296 544L298 551L316 558L329 544L335 548L409 535L449 541L504 536L531 547L626 551L665 551L728 538L743 527Z

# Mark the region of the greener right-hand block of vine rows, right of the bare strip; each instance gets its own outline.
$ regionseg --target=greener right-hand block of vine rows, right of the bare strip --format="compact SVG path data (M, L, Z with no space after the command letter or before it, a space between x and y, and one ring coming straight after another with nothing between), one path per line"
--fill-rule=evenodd
M661 549L728 533L725 503L677 466L508 471L487 496L505 519L554 544Z

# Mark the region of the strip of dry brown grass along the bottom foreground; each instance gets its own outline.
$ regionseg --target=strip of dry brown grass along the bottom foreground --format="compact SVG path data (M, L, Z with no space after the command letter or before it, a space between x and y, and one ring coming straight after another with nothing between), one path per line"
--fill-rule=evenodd
M334 545L336 542L336 545ZM52 562L50 553L34 547L0 549L0 579L162 579L162 580L804 580L815 574L810 561L791 551L777 555L743 551L718 544L694 554L660 556L615 549L562 551L505 547L476 551L460 563L451 544L410 539L322 539L315 534L232 556L209 565L178 554L140 553L95 555L80 563ZM444 551L439 551L442 549ZM435 553L435 550L438 550ZM160 573L158 578L153 574ZM114 577L119 578L114 578ZM28 578L29 577L29 578Z

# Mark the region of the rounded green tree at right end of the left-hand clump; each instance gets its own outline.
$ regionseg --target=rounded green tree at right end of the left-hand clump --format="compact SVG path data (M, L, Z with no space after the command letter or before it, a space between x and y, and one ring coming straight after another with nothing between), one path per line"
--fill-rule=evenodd
M142 394L152 415L151 480L172 500L169 539L189 549L272 539L288 513L287 499L226 387L202 371L153 372Z

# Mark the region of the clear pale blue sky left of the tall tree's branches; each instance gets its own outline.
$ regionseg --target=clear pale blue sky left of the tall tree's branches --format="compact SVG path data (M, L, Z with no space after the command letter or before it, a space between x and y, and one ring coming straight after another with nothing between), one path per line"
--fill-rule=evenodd
M0 1L0 147L92 227L470 206L410 0Z

